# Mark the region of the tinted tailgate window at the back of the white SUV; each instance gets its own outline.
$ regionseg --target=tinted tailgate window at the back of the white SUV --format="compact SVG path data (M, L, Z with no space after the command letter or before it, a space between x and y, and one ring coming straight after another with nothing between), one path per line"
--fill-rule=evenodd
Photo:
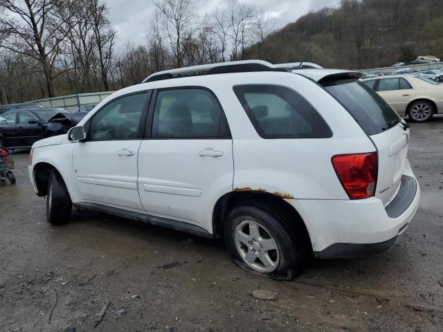
M354 79L327 77L319 82L368 135L386 130L386 125L399 122L399 115L372 89Z

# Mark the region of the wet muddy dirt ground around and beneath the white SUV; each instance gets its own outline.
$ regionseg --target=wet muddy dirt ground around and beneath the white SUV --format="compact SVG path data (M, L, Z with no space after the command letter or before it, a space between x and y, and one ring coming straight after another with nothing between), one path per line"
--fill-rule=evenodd
M17 184L0 184L0 331L441 332L443 117L411 124L409 158L422 201L395 248L275 282L221 241L78 210L49 225L18 152Z

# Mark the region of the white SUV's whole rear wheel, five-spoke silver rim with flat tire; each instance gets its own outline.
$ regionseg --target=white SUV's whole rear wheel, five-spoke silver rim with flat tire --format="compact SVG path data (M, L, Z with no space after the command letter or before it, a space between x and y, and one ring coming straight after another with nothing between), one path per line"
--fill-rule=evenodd
M261 203L240 205L226 220L226 246L235 264L273 279L290 280L302 272L309 257L304 236Z

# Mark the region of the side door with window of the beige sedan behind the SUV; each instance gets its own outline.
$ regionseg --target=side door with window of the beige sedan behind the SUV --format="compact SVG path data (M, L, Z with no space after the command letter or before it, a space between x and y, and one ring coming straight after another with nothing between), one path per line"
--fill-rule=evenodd
M403 77L381 78L376 86L377 92L401 116L406 115L406 107L415 97L415 90Z

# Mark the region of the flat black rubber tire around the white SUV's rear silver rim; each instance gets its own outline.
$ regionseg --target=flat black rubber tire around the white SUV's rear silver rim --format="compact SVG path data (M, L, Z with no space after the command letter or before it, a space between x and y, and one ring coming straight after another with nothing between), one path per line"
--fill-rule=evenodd
M275 259L275 268L269 273L262 272L248 265L246 259L242 257L244 254L241 254L239 251L241 249L237 249L237 228L242 227L248 221L257 222L264 226L271 235L271 239L275 240L277 244L278 251L274 251L278 252L278 256L275 253L272 255L278 257L278 260ZM260 230L262 229L260 228ZM293 277L300 275L311 256L309 237L307 237L302 221L289 220L281 211L275 210L275 208L266 203L251 201L234 208L226 219L224 238L235 264L245 270L254 271L273 279L291 280ZM246 250L249 252L248 248ZM255 262L261 263L258 258Z

